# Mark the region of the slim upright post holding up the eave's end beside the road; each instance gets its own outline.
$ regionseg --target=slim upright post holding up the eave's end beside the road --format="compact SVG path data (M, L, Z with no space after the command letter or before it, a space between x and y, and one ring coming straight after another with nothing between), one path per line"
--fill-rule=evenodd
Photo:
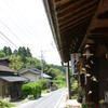
M67 63L67 69L66 69L66 73L67 73L67 87L68 87L68 98L71 99L71 93L70 93L70 73L69 73L69 62Z

